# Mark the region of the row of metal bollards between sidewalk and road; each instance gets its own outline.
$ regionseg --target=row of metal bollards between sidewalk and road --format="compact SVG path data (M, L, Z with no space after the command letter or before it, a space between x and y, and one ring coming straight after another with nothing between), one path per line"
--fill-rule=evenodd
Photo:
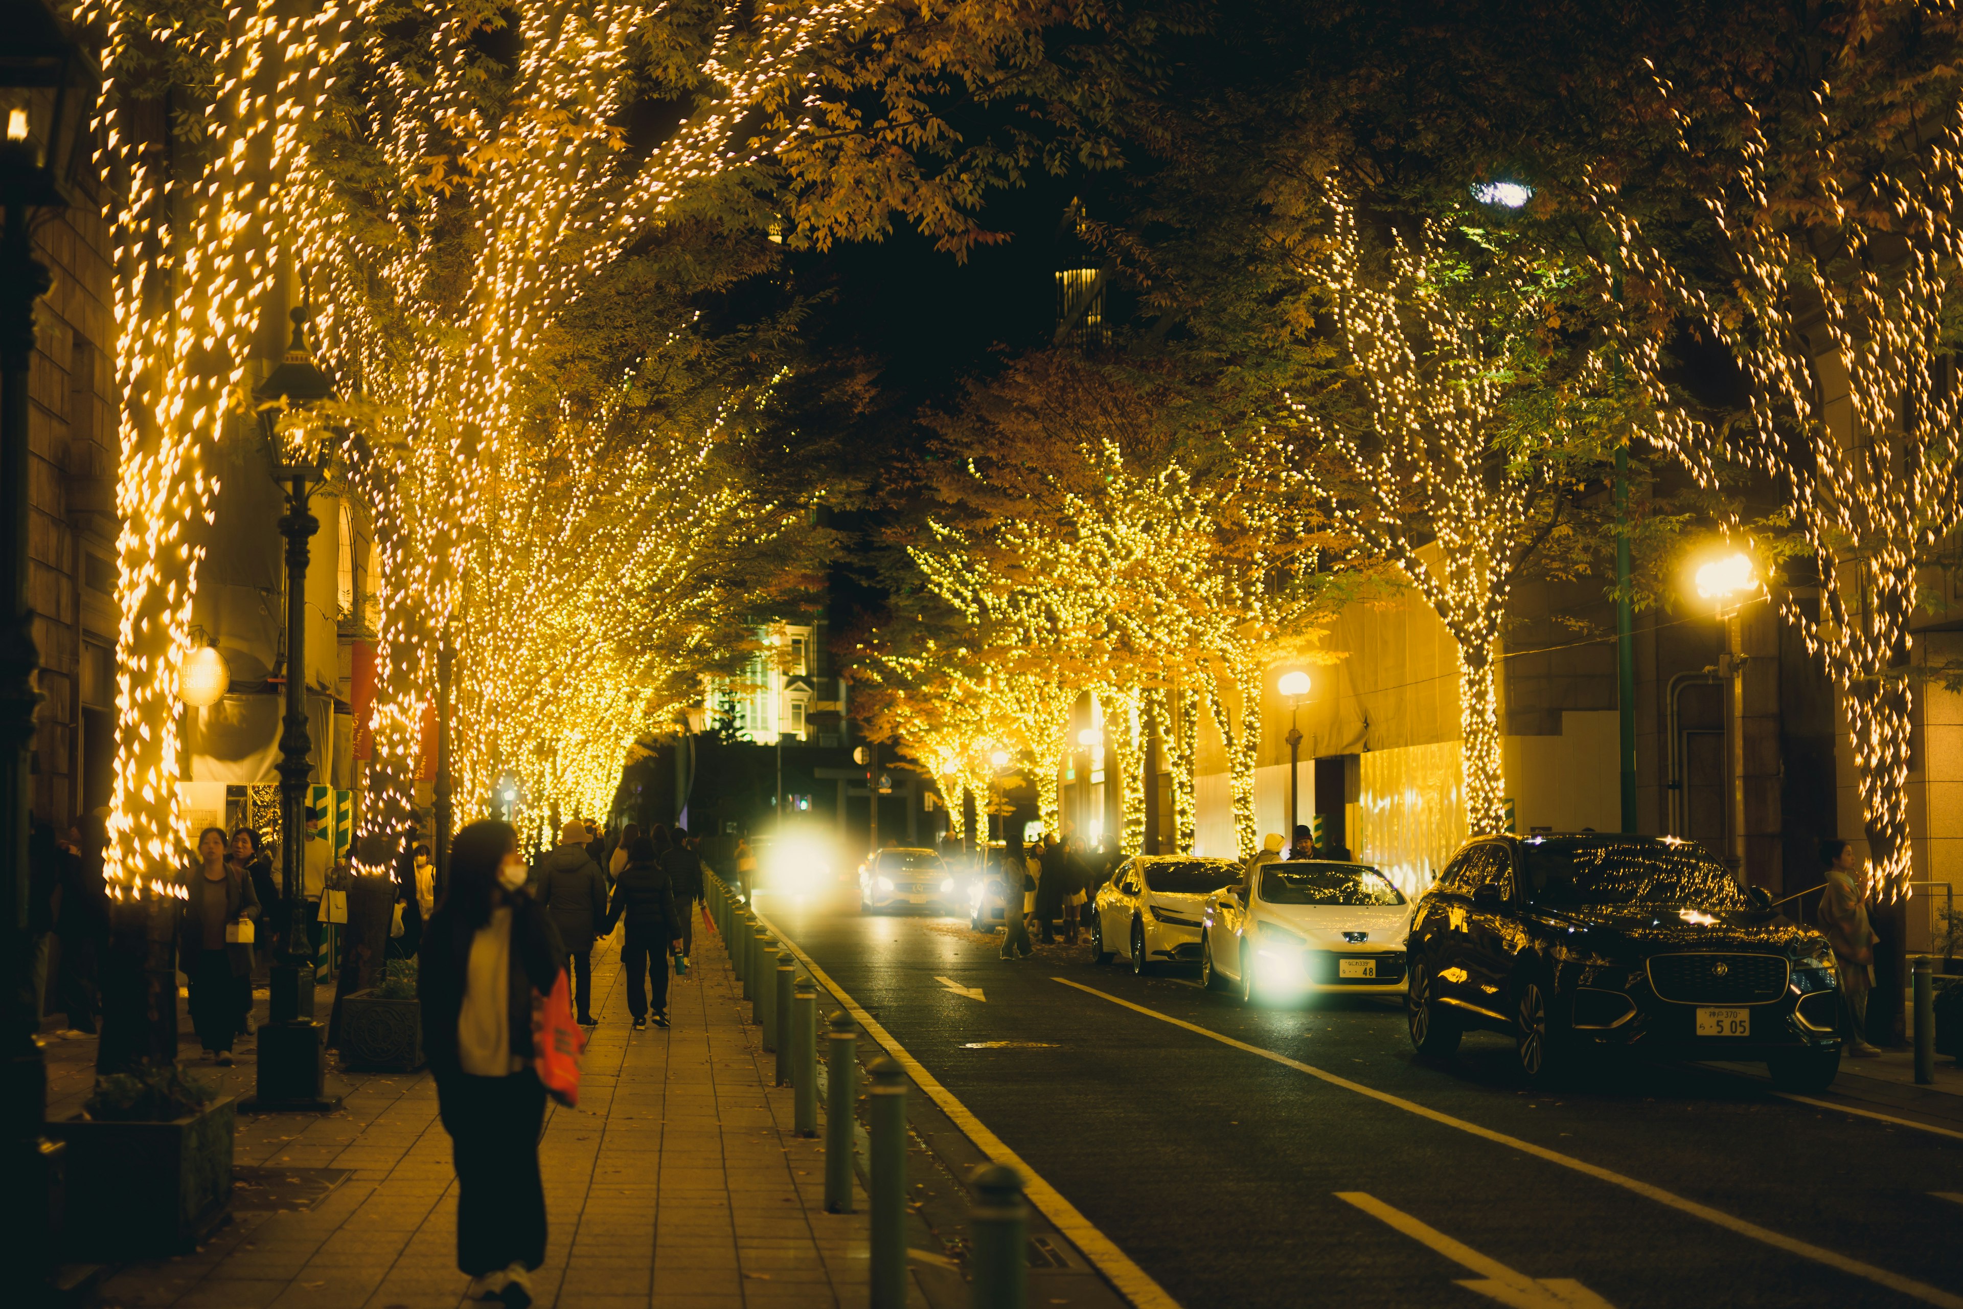
M777 1085L795 1095L795 1130L819 1134L817 1032L819 991L797 977L789 950L779 950L762 922L720 879L709 885L711 918L728 944L730 968L775 1052ZM1920 995L1920 993L1918 993ZM858 1101L858 1026L836 1011L826 1032L824 1209L854 1213L852 1158ZM866 1191L872 1244L872 1309L907 1303L907 1075L891 1058L870 1068ZM1029 1301L1029 1211L1013 1168L983 1164L970 1178L968 1250L974 1309L1025 1309Z

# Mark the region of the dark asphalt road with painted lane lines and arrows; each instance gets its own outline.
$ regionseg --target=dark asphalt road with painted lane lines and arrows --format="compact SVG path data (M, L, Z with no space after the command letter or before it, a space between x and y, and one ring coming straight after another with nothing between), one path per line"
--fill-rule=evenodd
M964 920L760 909L1186 1309L1963 1309L1963 1140L1702 1068L1527 1093L1498 1036L1413 1058L1388 1001L1243 1009Z

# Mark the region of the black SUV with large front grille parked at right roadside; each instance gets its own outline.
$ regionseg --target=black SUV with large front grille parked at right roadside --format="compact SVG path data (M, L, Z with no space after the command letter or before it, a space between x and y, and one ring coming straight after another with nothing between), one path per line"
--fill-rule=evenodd
M1417 901L1406 940L1411 1044L1513 1036L1529 1081L1637 1048L1765 1060L1784 1089L1839 1072L1839 995L1820 932L1674 836L1488 836Z

